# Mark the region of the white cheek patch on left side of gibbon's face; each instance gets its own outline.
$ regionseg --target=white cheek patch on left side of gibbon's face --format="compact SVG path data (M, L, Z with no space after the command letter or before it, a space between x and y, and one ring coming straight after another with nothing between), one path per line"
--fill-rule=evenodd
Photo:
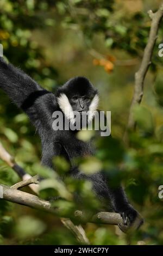
M62 110L62 112L65 114L66 118L70 120L72 124L74 124L75 120L74 120L73 109L66 94L62 93L57 100L58 100L59 107Z

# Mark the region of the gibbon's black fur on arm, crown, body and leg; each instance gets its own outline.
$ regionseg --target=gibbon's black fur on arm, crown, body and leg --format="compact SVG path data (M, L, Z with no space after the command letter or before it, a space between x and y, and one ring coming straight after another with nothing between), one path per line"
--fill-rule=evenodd
M20 69L4 62L0 58L0 88L2 88L11 100L27 113L30 121L38 131L42 143L42 164L53 168L52 159L56 155L64 155L72 162L74 157L92 155L95 149L91 142L79 141L73 131L54 131L52 129L52 113L59 110L57 97L41 88L32 78ZM60 87L57 96L65 93L69 99L73 95L89 96L92 99L97 90L84 77L76 77ZM108 145L109 147L109 145ZM71 175L76 179L89 179L97 196L105 202L105 209L111 204L115 212L119 212L127 224L134 222L137 211L128 202L122 187L112 189L103 173L85 175L77 168L71 167Z

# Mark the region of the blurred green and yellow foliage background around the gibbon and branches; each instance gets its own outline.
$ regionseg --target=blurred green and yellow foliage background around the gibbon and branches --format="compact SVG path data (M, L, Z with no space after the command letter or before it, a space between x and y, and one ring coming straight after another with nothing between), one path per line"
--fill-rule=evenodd
M111 111L114 140L110 143L109 138L104 138L99 143L97 161L113 181L122 180L132 204L145 218L145 224L130 237L134 245L163 244L163 202L158 197L158 187L163 185L163 57L158 56L158 45L163 42L162 23L145 80L145 94L141 106L134 111L137 129L129 134L128 147L122 143L134 74L151 26L147 11L157 10L160 3L159 0L0 1L0 43L9 62L52 92L71 77L85 76L99 90L101 109ZM26 114L2 90L0 139L28 173L34 175L40 169L40 139ZM121 171L117 169L119 165ZM58 169L64 169L60 160ZM0 160L0 183L12 185L18 180L14 171ZM67 181L67 190L75 186L70 186L71 182ZM85 184L82 188L87 191ZM85 197L87 205L94 202L86 192ZM128 243L128 237L114 226L87 223L84 229L92 245ZM0 244L78 242L58 217L1 200Z

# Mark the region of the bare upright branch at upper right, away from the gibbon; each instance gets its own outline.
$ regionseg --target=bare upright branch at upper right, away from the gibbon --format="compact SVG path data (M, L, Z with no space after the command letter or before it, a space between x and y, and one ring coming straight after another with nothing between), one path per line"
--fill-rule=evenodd
M134 95L133 95L133 100L131 102L127 129L134 129L136 125L133 117L133 109L137 104L140 104L142 100L144 80L145 80L149 65L151 65L151 58L152 58L155 41L158 35L159 24L163 16L163 3L160 5L160 8L158 9L158 11L156 11L156 13L153 13L152 11L148 11L148 14L152 19L151 30L149 33L149 39L143 54L140 68L135 74Z

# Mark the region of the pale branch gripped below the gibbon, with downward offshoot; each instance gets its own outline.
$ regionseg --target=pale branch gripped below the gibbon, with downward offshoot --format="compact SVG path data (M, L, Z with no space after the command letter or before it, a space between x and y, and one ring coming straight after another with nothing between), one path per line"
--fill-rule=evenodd
M51 212L52 214L55 214L57 216L59 215L59 212L60 212L60 209L58 207L55 207L55 206L52 207L51 203L46 200L43 200L37 196L34 196L33 194L22 192L2 184L0 184L0 198L5 199L12 203L26 205L26 206L29 206L30 208ZM68 220L68 218L70 218L70 216L65 216L65 218L61 218L62 223L64 223L64 225L67 228L69 228L73 233L76 234L80 242L81 242L81 237L84 237L82 241L85 243L87 240L87 237L85 238L85 235L84 235L85 231L83 233L82 226L74 225L71 222L71 220ZM74 215L71 216L71 219L81 223L92 222L92 223L98 223L98 224L118 225L119 227L121 227L121 229L123 227L124 231L135 230L142 223L142 218L139 215L137 217L137 220L134 222L134 225L131 226L131 228L129 228L128 226L125 227L123 225L123 220L121 215L115 212L98 212L96 215L88 219L82 211L75 211ZM73 227L72 227L72 224L73 224ZM87 240L87 243L89 243L89 240Z

